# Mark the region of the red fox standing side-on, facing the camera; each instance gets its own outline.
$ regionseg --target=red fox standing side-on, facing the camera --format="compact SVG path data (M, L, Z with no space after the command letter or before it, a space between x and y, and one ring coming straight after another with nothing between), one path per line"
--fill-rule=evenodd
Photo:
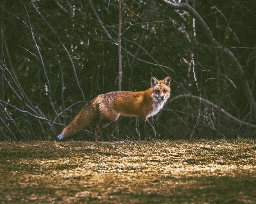
M102 128L105 124L116 121L119 115L134 116L139 119L140 139L145 138L145 120L156 115L170 97L170 77L164 80L157 80L151 77L151 88L143 92L108 92L98 95L87 103L76 115L73 121L66 126L58 139L75 135L97 120L95 129L96 140L99 134L107 139Z

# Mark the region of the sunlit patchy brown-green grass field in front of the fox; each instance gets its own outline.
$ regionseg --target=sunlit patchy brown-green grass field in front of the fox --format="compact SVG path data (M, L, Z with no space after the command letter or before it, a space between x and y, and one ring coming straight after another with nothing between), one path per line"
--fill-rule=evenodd
M256 140L1 142L1 203L256 203Z

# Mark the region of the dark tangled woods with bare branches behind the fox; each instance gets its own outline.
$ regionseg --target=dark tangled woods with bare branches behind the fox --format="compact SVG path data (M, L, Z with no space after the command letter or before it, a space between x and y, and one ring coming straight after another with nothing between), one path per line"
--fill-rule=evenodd
M147 137L254 136L254 0L121 4L122 90L172 78ZM118 1L3 0L0 15L1 140L54 139L86 102L118 90ZM94 128L71 139L94 140ZM135 118L115 128L105 128L110 139L137 138Z

